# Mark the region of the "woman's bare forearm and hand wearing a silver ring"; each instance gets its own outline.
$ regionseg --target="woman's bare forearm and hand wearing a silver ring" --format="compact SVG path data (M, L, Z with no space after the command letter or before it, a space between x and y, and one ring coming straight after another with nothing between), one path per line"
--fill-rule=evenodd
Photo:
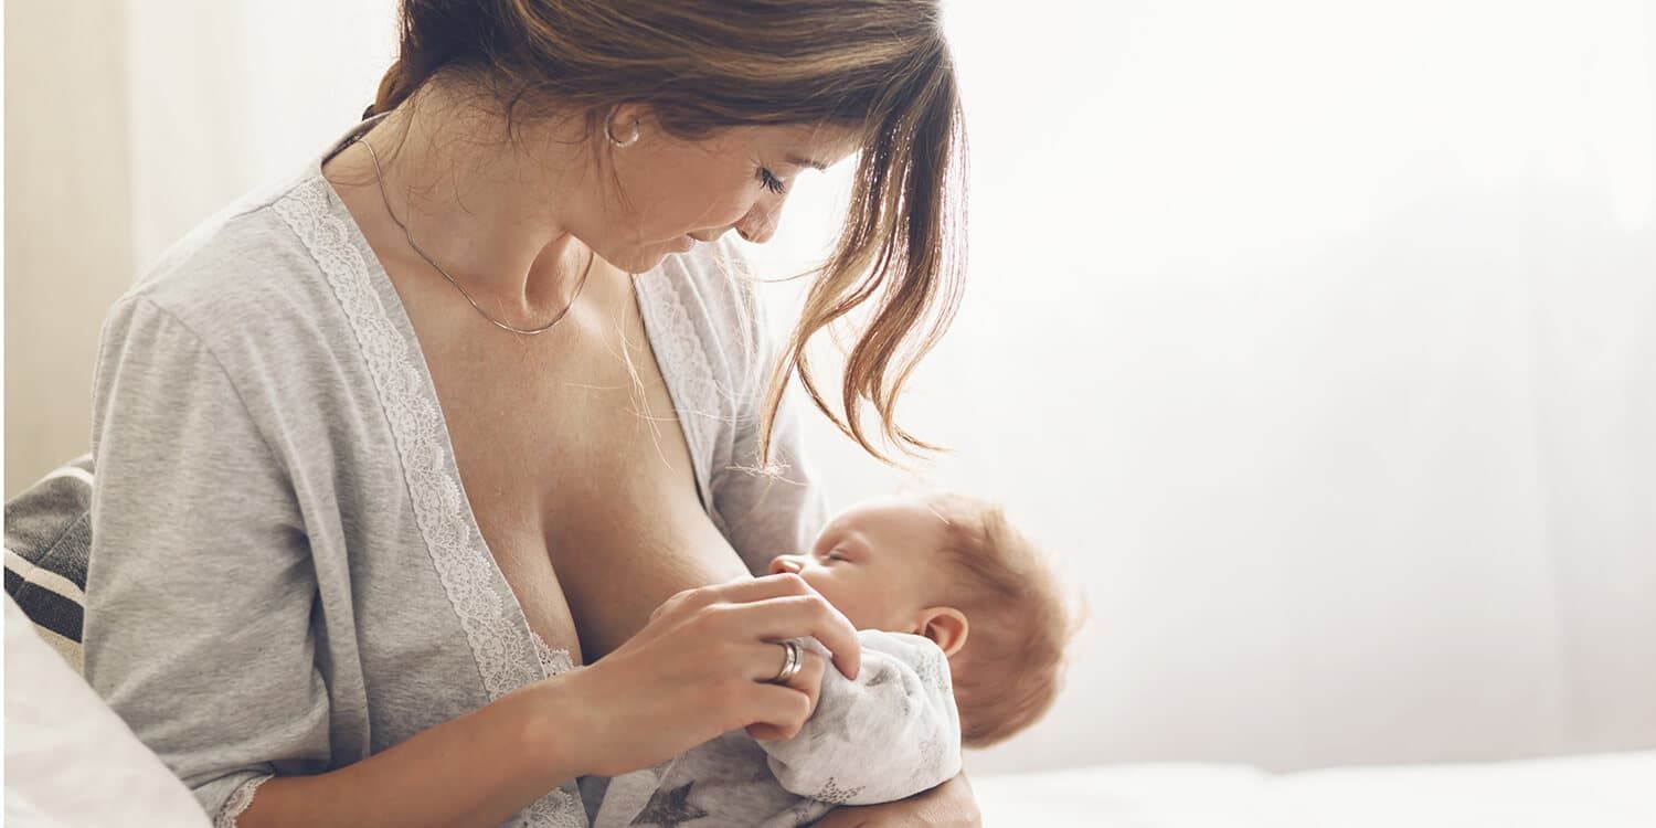
M238 825L498 825L578 775L639 770L719 734L762 724L792 735L810 717L811 659L770 684L773 639L816 636L856 674L851 624L795 576L674 596L638 636L580 671L513 692L354 765L280 777Z

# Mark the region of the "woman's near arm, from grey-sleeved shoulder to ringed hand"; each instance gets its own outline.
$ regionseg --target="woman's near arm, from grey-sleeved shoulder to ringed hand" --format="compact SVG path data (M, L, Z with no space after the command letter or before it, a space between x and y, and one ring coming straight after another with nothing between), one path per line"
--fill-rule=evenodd
M285 437L192 328L141 295L116 306L94 391L86 677L220 825L498 825L580 773L753 724L797 732L823 661L767 684L768 641L815 636L858 671L854 629L802 580L702 588L591 667L335 767Z

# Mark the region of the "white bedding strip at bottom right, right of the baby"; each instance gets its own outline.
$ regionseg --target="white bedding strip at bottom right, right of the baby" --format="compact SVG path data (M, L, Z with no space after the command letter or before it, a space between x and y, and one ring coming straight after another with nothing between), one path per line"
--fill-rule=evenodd
M1656 828L1656 752L1280 777L1121 765L972 788L990 828Z

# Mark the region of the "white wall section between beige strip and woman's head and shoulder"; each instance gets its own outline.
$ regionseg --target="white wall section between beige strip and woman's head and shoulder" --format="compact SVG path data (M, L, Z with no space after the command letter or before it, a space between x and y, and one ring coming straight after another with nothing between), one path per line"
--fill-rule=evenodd
M227 202L296 174L373 103L394 0L131 5L139 270Z

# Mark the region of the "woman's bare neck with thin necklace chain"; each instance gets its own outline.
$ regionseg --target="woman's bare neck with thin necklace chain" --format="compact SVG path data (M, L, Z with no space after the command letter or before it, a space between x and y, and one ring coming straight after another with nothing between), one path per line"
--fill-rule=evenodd
M442 278L424 252L502 321L563 310L593 255L565 230L591 181L581 142L558 123L512 139L502 116L439 83L416 103L323 169L374 250Z

